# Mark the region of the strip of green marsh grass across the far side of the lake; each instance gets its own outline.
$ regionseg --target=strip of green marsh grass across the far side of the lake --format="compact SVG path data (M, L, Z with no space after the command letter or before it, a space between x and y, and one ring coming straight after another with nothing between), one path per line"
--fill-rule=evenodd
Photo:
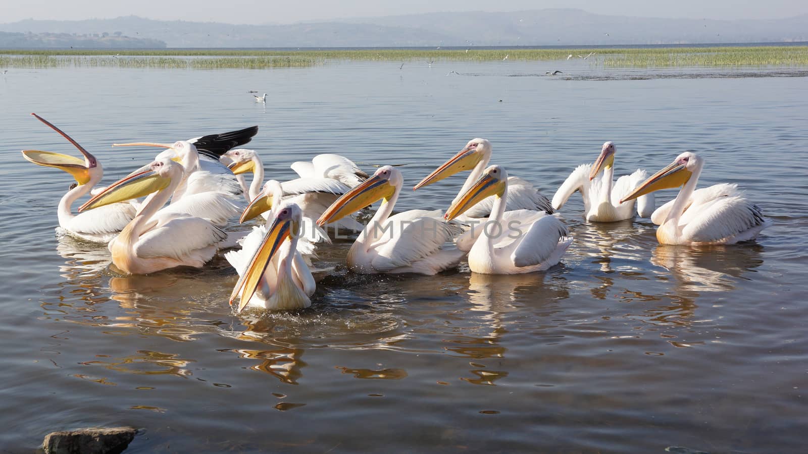
M709 48L552 48L238 50L238 49L44 49L0 50L0 67L15 68L301 68L328 61L512 61L566 60L595 55L591 65L606 67L808 66L808 46Z

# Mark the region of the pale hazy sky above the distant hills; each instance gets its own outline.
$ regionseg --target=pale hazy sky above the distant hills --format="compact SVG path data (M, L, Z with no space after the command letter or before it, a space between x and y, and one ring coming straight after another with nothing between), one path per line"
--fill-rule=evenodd
M778 19L808 13L805 0L4 0L0 22L138 15L225 23L293 23L436 11L520 11L579 8L604 15L692 19Z

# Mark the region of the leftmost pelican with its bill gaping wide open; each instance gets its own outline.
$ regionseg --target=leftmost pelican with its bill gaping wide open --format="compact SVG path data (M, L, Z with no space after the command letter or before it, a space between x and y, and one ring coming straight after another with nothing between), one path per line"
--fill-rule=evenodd
M23 150L23 158L28 161L39 166L56 167L57 169L65 170L76 179L77 184L71 185L70 190L65 195L62 195L61 200L59 200L57 207L59 229L57 229L57 232L61 229L76 238L90 242L109 242L126 227L129 221L132 221L136 212L135 206L129 203L111 204L98 211L74 214L72 209L74 202L89 194L95 184L101 181L103 167L95 159L95 156L84 149L82 145L78 145L77 141L74 141L61 129L36 114L32 115L60 133L62 137L65 137L84 157L81 159L49 151Z

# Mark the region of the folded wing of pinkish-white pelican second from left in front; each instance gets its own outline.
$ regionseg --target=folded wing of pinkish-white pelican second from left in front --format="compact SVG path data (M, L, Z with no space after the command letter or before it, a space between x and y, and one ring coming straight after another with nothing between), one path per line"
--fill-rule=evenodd
M134 245L134 253L141 258L170 257L185 261L200 253L208 255L208 248L213 257L217 243L225 239L227 233L204 219L175 217L141 235Z

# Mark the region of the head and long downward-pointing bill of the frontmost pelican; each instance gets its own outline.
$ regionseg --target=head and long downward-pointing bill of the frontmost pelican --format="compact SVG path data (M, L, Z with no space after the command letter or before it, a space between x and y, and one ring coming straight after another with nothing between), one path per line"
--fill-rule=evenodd
M278 207L278 212L272 219L272 225L267 229L267 233L263 235L261 244L255 250L255 254L250 259L244 273L238 278L233 292L230 293L230 305L233 305L236 296L241 293L238 311L244 309L244 306L250 301L259 286L263 272L267 270L267 265L280 250L280 245L283 244L286 238L297 237L300 232L302 217L303 211L297 204L287 203Z

